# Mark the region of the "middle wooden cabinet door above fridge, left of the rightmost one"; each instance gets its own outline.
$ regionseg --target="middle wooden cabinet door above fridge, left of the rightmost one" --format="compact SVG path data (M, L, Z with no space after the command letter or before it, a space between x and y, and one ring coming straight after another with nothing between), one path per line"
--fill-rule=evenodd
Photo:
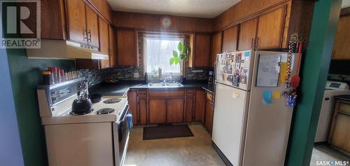
M256 29L258 28L258 18L253 18L241 23L239 29L238 50L251 49L252 40L256 38Z

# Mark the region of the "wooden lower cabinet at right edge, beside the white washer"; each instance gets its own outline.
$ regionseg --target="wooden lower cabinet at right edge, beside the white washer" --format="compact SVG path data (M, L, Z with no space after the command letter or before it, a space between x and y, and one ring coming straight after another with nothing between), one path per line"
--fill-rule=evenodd
M329 143L350 153L350 100L337 100L330 127Z

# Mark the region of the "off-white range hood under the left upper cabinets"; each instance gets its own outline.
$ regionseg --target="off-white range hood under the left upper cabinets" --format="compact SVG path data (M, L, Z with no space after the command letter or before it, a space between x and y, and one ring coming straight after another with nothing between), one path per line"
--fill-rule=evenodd
M97 50L84 48L79 43L63 40L41 40L41 48L27 49L29 59L90 59L109 60L109 55L104 55Z

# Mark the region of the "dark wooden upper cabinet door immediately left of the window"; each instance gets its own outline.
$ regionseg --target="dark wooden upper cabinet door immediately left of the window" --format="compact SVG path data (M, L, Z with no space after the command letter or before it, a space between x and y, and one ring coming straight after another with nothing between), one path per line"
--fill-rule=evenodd
M120 67L137 66L137 41L134 29L117 30L117 64Z

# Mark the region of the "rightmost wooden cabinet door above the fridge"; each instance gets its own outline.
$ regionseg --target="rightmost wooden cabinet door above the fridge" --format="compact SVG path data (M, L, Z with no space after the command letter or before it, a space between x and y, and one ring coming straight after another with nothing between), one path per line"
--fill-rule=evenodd
M286 8L261 15L258 20L258 49L281 48Z

